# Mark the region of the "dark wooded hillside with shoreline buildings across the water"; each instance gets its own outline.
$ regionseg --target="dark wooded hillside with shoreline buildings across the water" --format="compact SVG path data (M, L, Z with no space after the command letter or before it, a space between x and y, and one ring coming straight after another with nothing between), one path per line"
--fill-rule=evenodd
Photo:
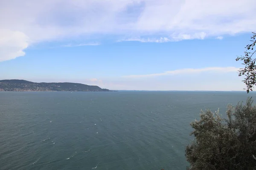
M0 91L110 91L96 85L72 82L29 82L26 80L0 80Z

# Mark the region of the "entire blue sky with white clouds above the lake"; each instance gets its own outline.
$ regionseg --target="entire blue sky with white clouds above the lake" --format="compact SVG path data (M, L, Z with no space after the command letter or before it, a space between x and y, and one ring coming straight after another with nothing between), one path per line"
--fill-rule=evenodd
M255 0L1 0L0 79L242 91Z

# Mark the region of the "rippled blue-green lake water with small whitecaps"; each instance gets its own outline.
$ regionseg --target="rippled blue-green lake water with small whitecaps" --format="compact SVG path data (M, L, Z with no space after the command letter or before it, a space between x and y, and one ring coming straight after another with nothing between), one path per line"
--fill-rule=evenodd
M1 92L1 170L185 170L189 123L246 92Z

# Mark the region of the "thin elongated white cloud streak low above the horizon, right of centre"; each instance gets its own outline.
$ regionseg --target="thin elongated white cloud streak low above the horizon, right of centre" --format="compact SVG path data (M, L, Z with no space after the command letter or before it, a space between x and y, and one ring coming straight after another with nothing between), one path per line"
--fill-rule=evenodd
M158 76L165 76L165 75L176 75L176 74L196 74L206 71L213 71L213 72L238 72L239 68L235 67L207 67L207 68L184 68L179 70L173 71L166 71L163 73L156 73L156 74L142 74L142 75L129 75L123 76L126 78L144 78L144 77L158 77Z

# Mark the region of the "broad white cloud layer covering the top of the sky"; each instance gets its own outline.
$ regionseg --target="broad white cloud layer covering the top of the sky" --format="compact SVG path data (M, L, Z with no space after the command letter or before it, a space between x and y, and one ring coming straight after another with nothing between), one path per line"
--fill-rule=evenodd
M255 0L2 0L0 35L15 35L1 40L1 60L23 56L28 45L42 41L111 35L168 42L250 32L255 14Z

